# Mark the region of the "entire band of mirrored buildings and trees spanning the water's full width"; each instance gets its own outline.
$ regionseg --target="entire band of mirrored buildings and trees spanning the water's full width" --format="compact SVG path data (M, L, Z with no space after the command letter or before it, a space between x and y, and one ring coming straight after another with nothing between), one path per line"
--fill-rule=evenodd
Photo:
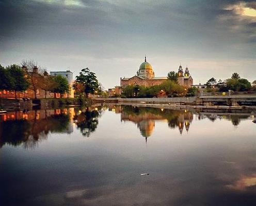
M53 110L12 111L0 115L0 147L4 144L18 146L24 143L26 148L35 147L38 142L47 139L49 133L73 132L75 126L83 136L89 137L99 124L104 110L120 114L121 122L133 122L142 137L146 139L153 134L156 122L166 122L170 129L178 129L182 135L188 133L193 121L205 118L215 122L217 119L231 121L238 126L243 119L251 118L253 112L225 113L197 111L191 109L164 109L135 106L108 105L86 108L65 108ZM8 132L6 132L8 131Z

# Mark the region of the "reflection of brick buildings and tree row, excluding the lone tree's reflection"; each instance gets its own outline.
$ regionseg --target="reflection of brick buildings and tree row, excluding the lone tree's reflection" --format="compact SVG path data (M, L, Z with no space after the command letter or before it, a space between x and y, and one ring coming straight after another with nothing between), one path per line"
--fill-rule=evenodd
M0 146L10 144L34 148L51 133L72 133L70 117L74 108L55 110L12 111L1 115Z

